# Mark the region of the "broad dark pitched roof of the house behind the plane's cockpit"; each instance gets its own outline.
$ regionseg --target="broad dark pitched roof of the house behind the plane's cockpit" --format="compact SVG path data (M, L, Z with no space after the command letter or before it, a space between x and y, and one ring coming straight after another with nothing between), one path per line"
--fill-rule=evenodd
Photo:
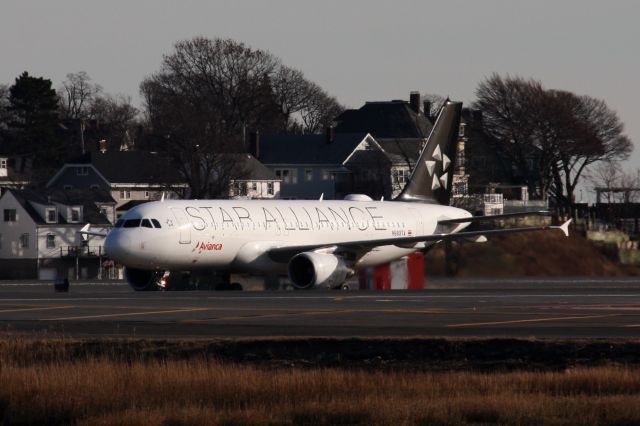
M110 183L182 183L168 158L145 151L87 152L71 164L92 164Z

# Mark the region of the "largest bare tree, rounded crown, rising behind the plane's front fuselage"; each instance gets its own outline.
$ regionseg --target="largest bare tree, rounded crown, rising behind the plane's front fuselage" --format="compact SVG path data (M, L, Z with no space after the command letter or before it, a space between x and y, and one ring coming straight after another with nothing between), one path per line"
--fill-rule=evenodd
M178 164L192 197L228 187L233 170L220 167L219 154L244 150L247 129L282 127L272 88L277 66L267 52L199 37L176 43L160 71L143 81L156 141Z

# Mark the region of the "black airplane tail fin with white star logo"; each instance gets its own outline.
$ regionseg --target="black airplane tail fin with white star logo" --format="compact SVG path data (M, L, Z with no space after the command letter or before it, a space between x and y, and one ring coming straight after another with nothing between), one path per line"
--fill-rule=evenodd
M447 100L398 201L449 204L462 102Z

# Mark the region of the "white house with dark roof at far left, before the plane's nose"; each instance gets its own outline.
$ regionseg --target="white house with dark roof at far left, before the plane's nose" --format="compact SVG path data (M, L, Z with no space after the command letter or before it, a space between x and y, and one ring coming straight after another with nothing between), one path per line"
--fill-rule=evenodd
M90 190L73 194L7 190L0 197L0 279L98 276L103 239L85 241L78 233L86 223L98 232L111 228L94 199Z

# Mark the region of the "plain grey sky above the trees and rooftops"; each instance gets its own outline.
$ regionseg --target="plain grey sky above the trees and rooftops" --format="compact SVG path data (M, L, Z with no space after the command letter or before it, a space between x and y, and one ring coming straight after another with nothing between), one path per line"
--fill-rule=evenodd
M491 74L518 75L605 100L635 170L638 16L635 0L2 0L0 84L86 71L139 106L140 82L195 36L268 50L352 108L412 90L469 104Z

